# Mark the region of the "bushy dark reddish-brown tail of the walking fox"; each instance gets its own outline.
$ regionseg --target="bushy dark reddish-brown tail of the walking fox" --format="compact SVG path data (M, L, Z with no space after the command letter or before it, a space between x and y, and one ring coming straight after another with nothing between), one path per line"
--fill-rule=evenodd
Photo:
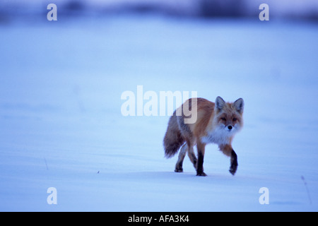
M179 148L184 143L184 138L181 135L179 126L177 124L177 116L174 112L169 119L167 126L167 132L165 138L163 138L163 146L165 147L165 157L172 157L177 153Z

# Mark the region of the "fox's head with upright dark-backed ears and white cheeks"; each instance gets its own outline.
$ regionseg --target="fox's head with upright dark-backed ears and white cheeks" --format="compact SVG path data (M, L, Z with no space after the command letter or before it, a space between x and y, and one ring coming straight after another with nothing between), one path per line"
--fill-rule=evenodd
M214 124L216 128L234 134L243 126L244 100L242 98L235 102L225 102L221 97L216 97L214 107Z

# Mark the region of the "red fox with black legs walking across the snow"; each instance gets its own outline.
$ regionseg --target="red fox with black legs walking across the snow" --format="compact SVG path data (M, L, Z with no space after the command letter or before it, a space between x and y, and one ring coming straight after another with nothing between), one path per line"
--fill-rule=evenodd
M184 112L184 106L189 110L196 108L196 121L187 124L189 116ZM187 109L187 108L186 108ZM196 169L196 176L206 176L204 173L204 150L207 143L216 143L220 150L230 157L230 173L237 170L237 155L232 148L232 139L235 133L243 126L244 100L225 102L221 97L216 97L213 103L204 98L191 98L175 110L169 119L167 132L163 139L165 157L172 157L180 147L180 153L175 165L175 172L183 172L182 162L188 153ZM178 114L179 113L179 114ZM196 145L198 157L194 154Z

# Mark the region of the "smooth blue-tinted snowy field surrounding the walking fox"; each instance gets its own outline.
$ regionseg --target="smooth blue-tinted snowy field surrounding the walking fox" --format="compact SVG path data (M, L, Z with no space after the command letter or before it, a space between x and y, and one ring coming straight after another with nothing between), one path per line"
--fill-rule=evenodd
M318 210L317 25L45 20L0 25L1 211ZM237 174L216 145L206 148L208 177L188 157L175 173L177 156L163 150L169 116L121 113L122 93L137 85L242 97Z

